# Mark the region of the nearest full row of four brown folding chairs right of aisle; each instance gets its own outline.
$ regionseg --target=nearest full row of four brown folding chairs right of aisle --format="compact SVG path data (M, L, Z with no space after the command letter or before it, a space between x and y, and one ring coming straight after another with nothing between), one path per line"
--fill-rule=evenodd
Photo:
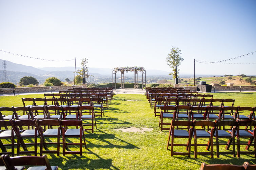
M221 129L222 127L225 129ZM249 128L251 127L251 128ZM237 157L241 154L253 154L256 155L256 121L255 120L202 120L202 121L175 121L172 120L171 127L169 129L168 145L171 146L171 156L173 155L188 155L191 154L191 146L194 146L194 157L197 155L209 154L213 158L214 156L214 145L216 146L216 154L219 157L220 154L232 154L236 156L237 145ZM186 143L181 142L174 143L175 138L186 138ZM194 144L191 144L192 138L194 138ZM202 138L203 142L208 139L207 143L197 143L198 139ZM224 139L228 139L227 142L221 143ZM214 143L213 140L216 140ZM221 140L220 140L221 139ZM235 142L235 139L237 142ZM244 139L244 140L242 140ZM248 142L249 140L249 142ZM244 141L247 141L244 143ZM220 150L220 146L225 145L225 151ZM246 147L241 150L241 145ZM250 146L253 145L253 149L250 150ZM175 146L186 147L185 152L175 152ZM206 146L206 151L202 152L198 146ZM230 147L232 148L230 149ZM177 148L176 148L177 149ZM199 151L198 151L199 150Z

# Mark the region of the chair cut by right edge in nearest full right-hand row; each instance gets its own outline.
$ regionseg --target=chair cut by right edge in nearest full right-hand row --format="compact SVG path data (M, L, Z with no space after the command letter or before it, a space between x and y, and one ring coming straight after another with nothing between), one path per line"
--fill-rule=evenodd
M252 130L250 130L252 129ZM256 157L256 120L240 120L236 130L237 139L237 157L241 154L253 154ZM242 138L249 138L247 143L242 143ZM250 151L249 148L253 143L253 150ZM241 151L240 146L245 145L246 151Z

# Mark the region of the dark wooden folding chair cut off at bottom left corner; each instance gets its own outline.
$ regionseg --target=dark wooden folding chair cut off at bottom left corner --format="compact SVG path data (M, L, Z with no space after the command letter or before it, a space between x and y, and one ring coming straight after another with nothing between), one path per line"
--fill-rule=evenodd
M46 155L43 156L14 156L4 155L4 162L7 169L14 170L16 166L34 165L30 166L28 170L57 170L58 166L51 166Z

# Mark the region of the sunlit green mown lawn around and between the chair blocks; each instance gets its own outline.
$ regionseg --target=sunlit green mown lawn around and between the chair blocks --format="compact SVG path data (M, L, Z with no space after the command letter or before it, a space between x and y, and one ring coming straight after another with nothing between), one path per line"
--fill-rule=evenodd
M212 93L214 98L235 98L235 106L256 106L256 93ZM22 106L21 98L43 97L43 94L1 96L0 106ZM105 109L102 118L97 117L97 127L94 133L85 132L87 149L83 148L83 155L47 154L52 165L59 169L199 169L202 162L206 164L235 164L242 165L248 161L256 164L253 155L232 155L216 157L198 155L194 159L192 146L191 158L175 155L171 157L166 149L169 132L160 131L159 118L154 117L153 109L145 95L115 95L109 108ZM123 132L120 128L136 127L150 128L151 131ZM50 140L50 139L49 139ZM51 139L55 140L55 139ZM186 140L179 140L186 143ZM6 141L7 142L7 141ZM207 142L199 140L199 142ZM193 140L192 140L193 144ZM54 146L53 146L54 147ZM76 150L77 147L71 147ZM251 148L253 149L253 148ZM184 151L184 148L175 148ZM204 151L202 147L199 150ZM221 150L224 150L221 147ZM62 151L62 148L61 148ZM15 152L16 153L16 152ZM38 147L39 153L39 147Z

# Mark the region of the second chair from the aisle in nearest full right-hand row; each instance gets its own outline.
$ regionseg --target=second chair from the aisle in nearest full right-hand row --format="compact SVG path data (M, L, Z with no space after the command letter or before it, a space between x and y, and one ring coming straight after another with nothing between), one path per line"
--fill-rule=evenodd
M208 133L209 128L213 130L215 127L215 122L209 120L201 120L196 121L194 120L193 123L193 137L194 137L194 156L197 158L197 155L206 155L210 154L213 158L213 136ZM197 143L197 139L208 139L208 143ZM203 140L204 141L204 140ZM208 148L210 145L210 148ZM198 152L198 146L206 146L206 150L211 150L210 152Z

